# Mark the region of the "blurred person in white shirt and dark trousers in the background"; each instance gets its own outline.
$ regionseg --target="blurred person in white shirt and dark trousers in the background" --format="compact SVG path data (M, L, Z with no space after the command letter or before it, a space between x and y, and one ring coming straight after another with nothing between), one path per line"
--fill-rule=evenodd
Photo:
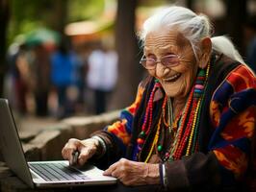
M117 55L99 43L98 49L91 52L88 59L87 85L93 91L94 112L107 110L108 97L117 80Z

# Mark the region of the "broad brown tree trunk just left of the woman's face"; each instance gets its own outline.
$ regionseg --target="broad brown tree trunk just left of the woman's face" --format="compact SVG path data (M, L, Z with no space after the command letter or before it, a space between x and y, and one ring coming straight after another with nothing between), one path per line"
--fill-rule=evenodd
M124 108L135 99L141 80L138 43L135 34L137 0L118 0L115 20L115 45L118 54L118 83L115 108Z

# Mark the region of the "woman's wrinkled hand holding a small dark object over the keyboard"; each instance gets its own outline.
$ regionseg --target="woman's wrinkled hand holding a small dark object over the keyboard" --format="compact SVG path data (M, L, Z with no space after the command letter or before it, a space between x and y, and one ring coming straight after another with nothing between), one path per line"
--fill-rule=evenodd
M62 155L65 160L69 161L69 165L83 166L91 156L93 156L99 147L99 141L94 138L79 140L70 138L64 145ZM74 161L73 154L78 152L77 161Z

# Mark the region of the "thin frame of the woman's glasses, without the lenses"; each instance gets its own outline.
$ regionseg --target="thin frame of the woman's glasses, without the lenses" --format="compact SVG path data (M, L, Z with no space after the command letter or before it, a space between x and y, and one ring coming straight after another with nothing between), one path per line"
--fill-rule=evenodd
M166 64L166 63L163 61L163 60L166 59L166 58L177 58L178 61L175 62L175 63ZM152 67L150 67L150 66L148 67L148 66L146 66L146 64L145 64L145 61L147 61L147 60L154 61L155 64L152 65ZM175 55L175 54L166 55L166 56L160 58L159 60L155 60L155 59L153 59L153 58L146 58L145 55L143 55L142 58L141 58L141 60L140 60L140 64L141 64L145 69L149 69L149 70L150 70L150 69L155 69L156 66L157 66L157 63L160 63L160 62L161 62L164 66L166 66L166 67L174 67L174 66L179 65L179 64L180 64L180 61L181 61L181 57L178 56L178 55Z

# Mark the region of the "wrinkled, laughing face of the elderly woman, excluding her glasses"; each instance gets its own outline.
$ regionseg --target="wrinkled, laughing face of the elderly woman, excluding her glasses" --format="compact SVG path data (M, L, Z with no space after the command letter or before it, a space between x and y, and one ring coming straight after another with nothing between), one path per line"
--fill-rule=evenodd
M167 96L185 98L192 88L197 71L190 41L176 30L162 30L149 33L144 43L144 55L147 59L161 60L172 54L180 57L175 66L165 66L158 62L148 72L160 81Z

